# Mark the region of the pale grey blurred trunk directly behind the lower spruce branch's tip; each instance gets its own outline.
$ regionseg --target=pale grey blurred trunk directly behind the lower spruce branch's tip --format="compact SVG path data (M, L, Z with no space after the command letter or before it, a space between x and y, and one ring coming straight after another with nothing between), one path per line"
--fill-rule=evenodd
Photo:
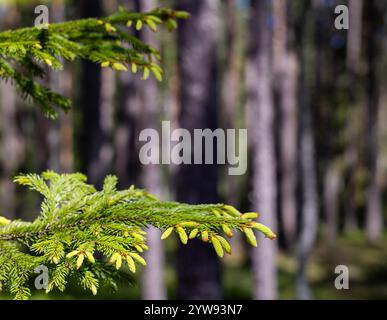
M253 210L261 222L276 229L276 162L271 69L270 11L265 1L252 1L250 47L246 66L247 122L253 151ZM254 298L277 297L276 242L263 241L253 251Z

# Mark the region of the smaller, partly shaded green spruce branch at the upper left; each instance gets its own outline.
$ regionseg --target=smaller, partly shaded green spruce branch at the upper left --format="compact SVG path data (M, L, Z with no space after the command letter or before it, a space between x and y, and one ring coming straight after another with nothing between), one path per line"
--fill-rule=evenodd
M144 27L157 31L165 25L170 31L186 12L158 8L147 13L120 9L101 18L89 18L0 32L0 79L11 80L24 98L32 99L48 117L57 116L56 108L67 111L70 100L38 82L45 69L61 70L62 60L90 60L118 71L151 73L162 79L160 55L152 46L130 34Z

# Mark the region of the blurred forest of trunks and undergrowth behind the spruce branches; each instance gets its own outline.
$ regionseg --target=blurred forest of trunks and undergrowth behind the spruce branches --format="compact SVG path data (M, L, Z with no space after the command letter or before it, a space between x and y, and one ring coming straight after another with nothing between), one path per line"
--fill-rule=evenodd
M99 186L162 199L227 202L261 212L278 241L249 248L232 240L220 261L210 246L150 230L148 267L117 294L97 298L387 298L387 1L52 0L0 1L0 30L32 26L35 6L50 22L110 14L125 6L175 7L192 14L176 32L135 34L158 47L165 80L77 61L47 83L73 100L44 118L0 82L0 212L31 220L39 198L11 182L18 172L82 171ZM336 5L349 29L334 27ZM248 128L248 172L225 166L141 166L138 134L174 128ZM337 290L337 265L349 290ZM35 298L45 298L36 292ZM91 298L70 289L51 298Z

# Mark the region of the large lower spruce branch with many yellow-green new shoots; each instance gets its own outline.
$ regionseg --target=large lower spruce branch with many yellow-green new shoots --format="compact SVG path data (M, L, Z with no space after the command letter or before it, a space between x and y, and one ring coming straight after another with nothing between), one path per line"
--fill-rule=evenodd
M107 176L100 191L79 173L46 171L14 180L43 196L33 222L0 217L0 288L16 299L29 298L39 265L50 270L46 292L65 290L69 278L94 295L102 283L115 287L122 267L135 273L146 265L140 254L148 249L148 226L163 230L162 239L175 232L184 244L193 238L209 242L220 257L231 254L224 235L232 237L234 231L243 232L253 246L253 229L275 238L254 221L256 213L241 214L224 204L162 202L134 186L119 191L115 176Z

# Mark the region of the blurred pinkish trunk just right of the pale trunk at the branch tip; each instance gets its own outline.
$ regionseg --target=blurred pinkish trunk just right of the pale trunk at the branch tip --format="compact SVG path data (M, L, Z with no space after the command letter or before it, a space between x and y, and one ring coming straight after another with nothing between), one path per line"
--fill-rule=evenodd
M273 68L275 86L279 95L279 169L281 217L285 243L292 246L297 231L297 82L298 61L295 52L288 46L291 38L287 22L287 3L282 0L273 2ZM288 48L289 47L289 48Z

